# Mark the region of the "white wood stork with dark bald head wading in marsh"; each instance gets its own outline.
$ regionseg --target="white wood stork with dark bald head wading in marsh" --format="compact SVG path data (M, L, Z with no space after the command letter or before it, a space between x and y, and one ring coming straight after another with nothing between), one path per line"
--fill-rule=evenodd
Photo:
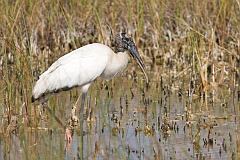
M40 75L33 88L32 101L51 93L81 87L80 114L83 114L81 110L84 108L91 83L98 77L109 80L123 71L129 61L128 52L137 61L148 83L143 61L132 38L126 33L119 33L115 36L113 44L115 51L104 44L93 43L60 57Z

